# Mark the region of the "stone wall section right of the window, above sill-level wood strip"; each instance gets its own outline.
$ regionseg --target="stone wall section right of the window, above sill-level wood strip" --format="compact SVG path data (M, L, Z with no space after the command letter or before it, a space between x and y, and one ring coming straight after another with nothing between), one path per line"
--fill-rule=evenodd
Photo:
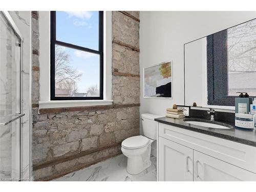
M124 13L112 14L112 98L114 103L139 103L139 12Z

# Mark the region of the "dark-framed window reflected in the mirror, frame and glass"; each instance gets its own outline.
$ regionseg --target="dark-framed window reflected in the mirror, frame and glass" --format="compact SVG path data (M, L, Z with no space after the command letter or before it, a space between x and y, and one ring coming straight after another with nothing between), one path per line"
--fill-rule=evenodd
M234 106L256 96L256 19L207 36L208 104Z

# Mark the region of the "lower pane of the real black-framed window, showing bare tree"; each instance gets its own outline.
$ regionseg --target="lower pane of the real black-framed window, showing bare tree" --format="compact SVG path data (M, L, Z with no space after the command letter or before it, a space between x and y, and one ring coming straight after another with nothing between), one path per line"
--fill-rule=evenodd
M99 55L55 46L55 97L99 97Z

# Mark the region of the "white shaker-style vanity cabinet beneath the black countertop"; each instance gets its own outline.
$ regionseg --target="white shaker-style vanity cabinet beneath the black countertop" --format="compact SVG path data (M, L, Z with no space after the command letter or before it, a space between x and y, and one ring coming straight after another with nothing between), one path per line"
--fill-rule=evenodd
M158 123L158 181L256 181L256 147Z

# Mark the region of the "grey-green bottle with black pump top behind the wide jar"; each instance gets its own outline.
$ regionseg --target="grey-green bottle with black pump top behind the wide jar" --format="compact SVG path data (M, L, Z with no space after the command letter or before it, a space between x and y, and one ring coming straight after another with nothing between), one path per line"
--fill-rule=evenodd
M250 112L250 104L252 103L252 98L249 97L247 93L243 94L240 93L238 98L234 99L235 107L236 107L236 113L246 113L249 114Z

